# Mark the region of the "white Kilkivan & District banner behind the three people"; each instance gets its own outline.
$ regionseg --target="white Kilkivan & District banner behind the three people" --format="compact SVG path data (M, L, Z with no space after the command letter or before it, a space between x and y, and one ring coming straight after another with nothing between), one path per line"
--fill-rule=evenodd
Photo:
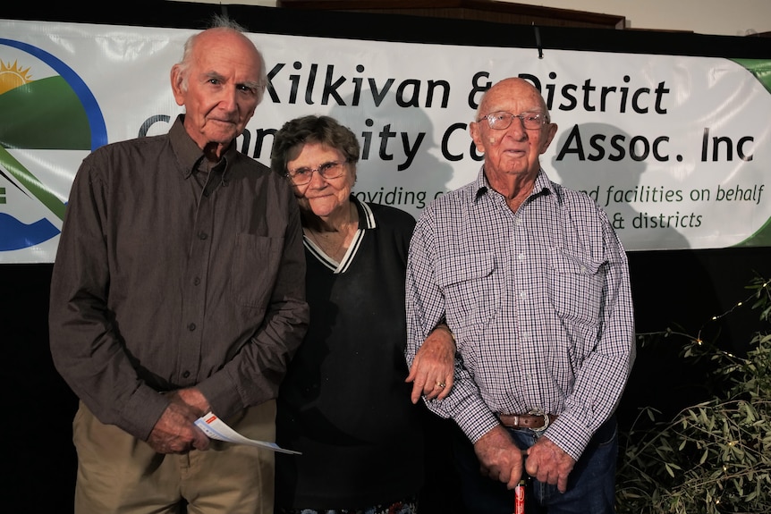
M0 263L53 262L81 159L168 130L192 33L0 20ZM468 123L519 75L559 125L546 173L603 206L626 249L771 245L768 62L249 36L270 87L238 146L264 164L284 122L332 115L360 137L354 192L417 216L479 173Z

